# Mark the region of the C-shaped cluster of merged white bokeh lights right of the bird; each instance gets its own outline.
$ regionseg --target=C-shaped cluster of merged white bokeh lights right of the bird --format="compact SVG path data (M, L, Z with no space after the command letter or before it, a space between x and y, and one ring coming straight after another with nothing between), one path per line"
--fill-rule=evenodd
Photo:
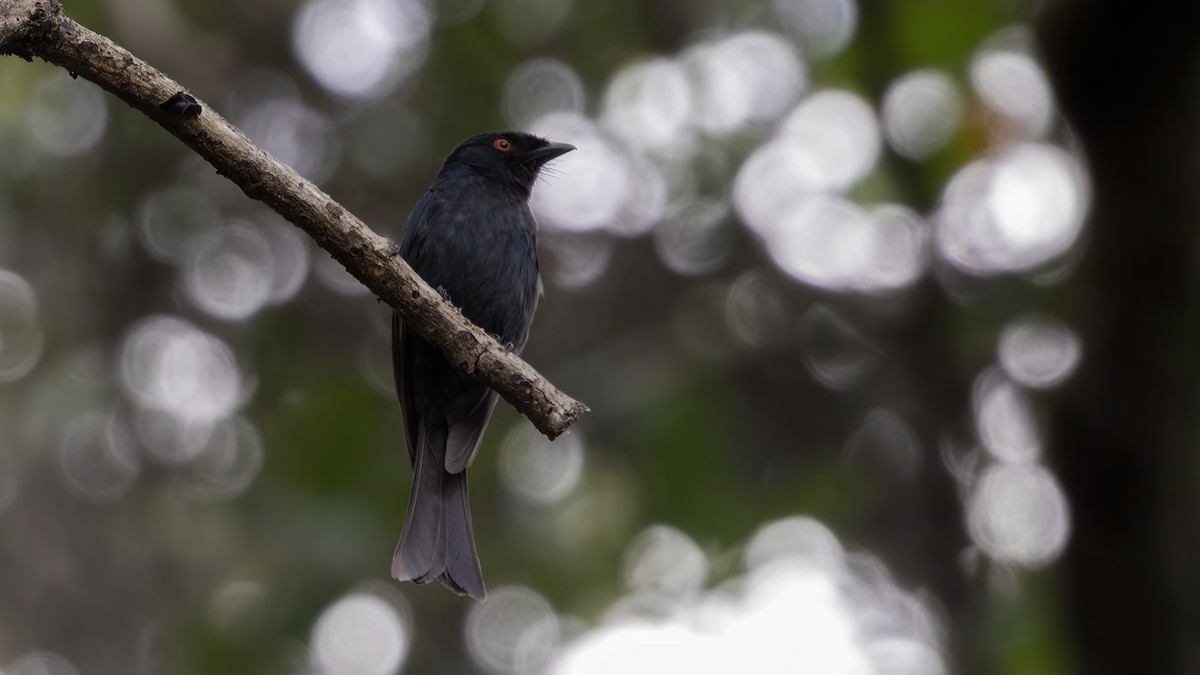
M924 267L923 221L898 208L871 214L830 193L862 180L878 151L878 124L865 101L814 94L742 165L733 184L738 215L800 281L859 292L908 285Z

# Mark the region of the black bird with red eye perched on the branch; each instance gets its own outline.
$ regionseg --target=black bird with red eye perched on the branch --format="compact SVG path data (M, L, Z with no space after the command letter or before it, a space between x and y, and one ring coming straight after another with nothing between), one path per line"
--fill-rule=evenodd
M529 192L539 171L575 148L516 131L463 141L404 226L400 255L463 316L521 352L541 294L538 223ZM482 601L467 500L467 467L496 392L451 366L392 313L391 359L404 416L413 494L391 575Z

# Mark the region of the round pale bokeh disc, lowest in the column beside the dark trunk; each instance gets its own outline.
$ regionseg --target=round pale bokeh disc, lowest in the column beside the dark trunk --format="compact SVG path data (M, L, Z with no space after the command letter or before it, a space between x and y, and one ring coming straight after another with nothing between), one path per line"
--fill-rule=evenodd
M1054 561L1070 533L1067 497L1037 465L986 468L971 494L967 519L971 537L989 556L1022 567Z

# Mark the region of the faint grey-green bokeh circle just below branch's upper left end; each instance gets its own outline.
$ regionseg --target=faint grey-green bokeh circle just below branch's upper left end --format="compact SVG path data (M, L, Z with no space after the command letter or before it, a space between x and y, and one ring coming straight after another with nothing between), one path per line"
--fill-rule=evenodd
M80 155L103 137L108 100L95 84L56 71L42 78L34 91L29 125L34 138L52 155Z

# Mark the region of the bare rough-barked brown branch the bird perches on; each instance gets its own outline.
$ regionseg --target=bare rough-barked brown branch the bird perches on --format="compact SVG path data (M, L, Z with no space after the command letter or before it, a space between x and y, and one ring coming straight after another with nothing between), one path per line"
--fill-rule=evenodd
M203 101L196 107L180 98L184 86L71 20L58 0L0 0L0 54L42 58L158 123L248 197L307 232L460 370L496 389L547 437L566 431L588 410L444 301L396 255L394 243L256 147Z

